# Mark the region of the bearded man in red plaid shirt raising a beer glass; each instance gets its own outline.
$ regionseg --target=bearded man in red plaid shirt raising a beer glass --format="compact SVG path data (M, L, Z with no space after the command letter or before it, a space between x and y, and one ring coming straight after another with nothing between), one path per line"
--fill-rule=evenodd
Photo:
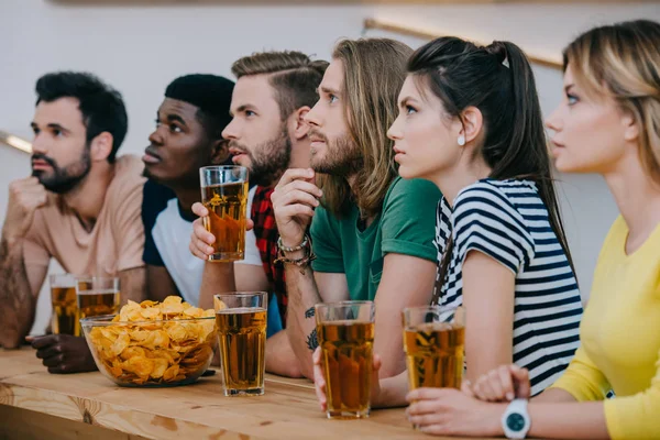
M243 57L232 66L238 78L232 95L232 121L222 132L229 141L233 163L250 169L252 209L250 217L263 267L233 263L207 263L200 290L200 307L212 307L218 292L267 290L276 301L283 327L286 326L287 292L284 267L277 258L277 226L271 195L288 168L309 167L309 125L305 116L318 101L317 88L328 63L311 61L299 52L265 52ZM196 215L208 211L201 204ZM190 251L207 260L212 251L207 243L215 238L198 220ZM246 240L250 243L250 240ZM268 322L271 326L272 323ZM297 358L285 331L272 336L266 344L266 370L300 377Z

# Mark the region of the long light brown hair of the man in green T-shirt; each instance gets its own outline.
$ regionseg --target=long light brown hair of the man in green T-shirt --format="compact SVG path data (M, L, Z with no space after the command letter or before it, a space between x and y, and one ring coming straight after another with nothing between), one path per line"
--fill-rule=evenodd
M406 63L413 50L388 38L343 40L332 58L344 67L343 92L349 135L362 153L362 167L354 176L352 194L363 218L376 216L392 180L397 175L393 142L387 130L397 116L397 99L406 79ZM323 206L340 217L348 213L351 187L345 177L320 179Z

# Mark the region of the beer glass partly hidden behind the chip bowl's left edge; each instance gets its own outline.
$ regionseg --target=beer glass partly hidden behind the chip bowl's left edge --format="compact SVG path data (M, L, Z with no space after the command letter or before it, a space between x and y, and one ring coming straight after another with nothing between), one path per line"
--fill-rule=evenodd
M90 276L76 279L79 318L119 312L119 277Z

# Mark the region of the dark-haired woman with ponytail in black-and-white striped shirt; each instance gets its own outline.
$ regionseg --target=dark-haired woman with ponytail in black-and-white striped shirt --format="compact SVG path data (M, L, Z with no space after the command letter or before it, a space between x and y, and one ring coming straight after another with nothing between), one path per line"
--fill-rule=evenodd
M529 63L513 43L442 37L408 72L388 134L402 177L443 194L435 301L465 306L468 380L515 362L540 393L579 346L582 305ZM405 380L383 380L373 404L405 404Z

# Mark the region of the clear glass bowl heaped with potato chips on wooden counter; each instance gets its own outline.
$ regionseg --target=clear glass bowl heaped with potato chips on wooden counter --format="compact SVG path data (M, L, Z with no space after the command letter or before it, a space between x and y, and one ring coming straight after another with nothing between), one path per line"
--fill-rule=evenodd
M216 311L174 296L129 301L119 315L80 326L99 371L121 386L190 384L210 365L217 343Z

